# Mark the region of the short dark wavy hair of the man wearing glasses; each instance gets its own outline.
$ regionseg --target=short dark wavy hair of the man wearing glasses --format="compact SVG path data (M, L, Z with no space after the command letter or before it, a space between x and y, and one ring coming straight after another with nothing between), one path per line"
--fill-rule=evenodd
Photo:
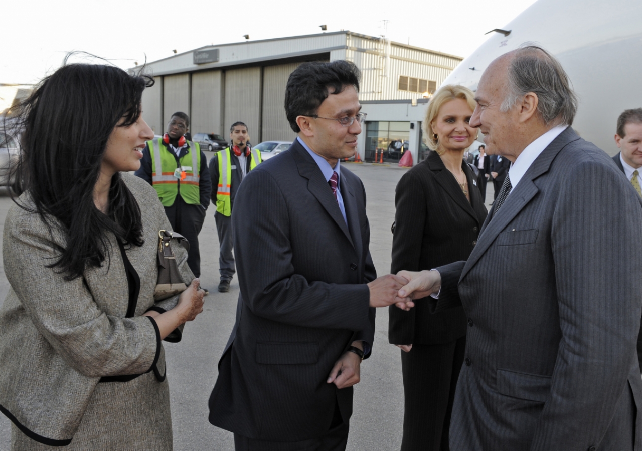
M359 92L361 71L349 61L303 63L290 74L285 88L285 114L295 133L298 116L314 116L319 106L329 95L339 94L346 86L354 86Z

